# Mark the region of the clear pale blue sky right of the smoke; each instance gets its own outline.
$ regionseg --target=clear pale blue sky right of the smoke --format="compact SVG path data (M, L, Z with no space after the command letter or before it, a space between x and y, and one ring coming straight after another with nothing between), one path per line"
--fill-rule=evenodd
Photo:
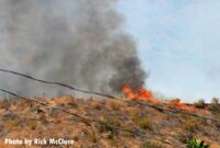
M146 87L194 102L220 96L219 0L119 0Z

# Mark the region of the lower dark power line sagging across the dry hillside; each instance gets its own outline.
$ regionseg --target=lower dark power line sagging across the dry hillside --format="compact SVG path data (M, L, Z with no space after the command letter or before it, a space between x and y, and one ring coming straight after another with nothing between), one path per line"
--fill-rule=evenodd
M4 93L8 93L10 95L13 95L15 98L19 98L19 99L23 99L23 100L26 100L26 101L30 101L30 102L34 102L34 103L41 104L41 105L43 105L43 106L45 106L47 109L56 110L56 111L63 112L65 114L73 115L73 116L79 118L81 122L85 122L85 123L97 123L99 125L108 126L108 127L111 127L111 128L114 128L114 129L118 129L118 130L122 130L122 132L128 132L128 133L131 133L131 134L136 135L136 136L145 137L145 138L148 138L148 139L157 140L157 141L174 146L174 144L172 144L172 143L169 143L167 140L163 140L163 139L157 138L157 137L151 137L151 136L145 135L144 133L134 132L132 129L128 129L128 128L123 128L123 127L120 127L120 126L116 126L116 125L112 125L112 124L109 124L109 123L106 123L106 122L102 122L102 121L99 121L99 119L86 118L84 116L80 116L78 114L72 113L72 112L66 111L64 109L51 106L51 105L46 104L45 102L41 102L41 101L37 101L37 100L20 96L18 94L15 94L14 92L10 92L10 91L7 91L4 89L0 89L0 91L2 91Z

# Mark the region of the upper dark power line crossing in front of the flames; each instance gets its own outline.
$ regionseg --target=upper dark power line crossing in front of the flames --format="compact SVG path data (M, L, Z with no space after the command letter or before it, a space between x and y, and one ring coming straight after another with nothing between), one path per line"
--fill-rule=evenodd
M150 104L150 103L146 103L146 102L128 101L128 100L120 99L120 98L117 98L117 96L113 96L113 95L110 95L110 94L105 94L105 93L100 93L100 92L96 92L96 91L88 91L88 90L78 89L78 88L75 88L75 87L73 87L70 84L66 84L66 83L62 83L62 82L57 82L57 81L42 80L42 79L38 79L38 78L34 78L32 76L29 76L29 75L25 75L25 73L21 73L21 72L16 72L16 71L12 71L12 70L7 70L7 69L0 68L0 71L7 72L7 73L12 73L12 75L20 76L20 77L24 77L24 78L28 78L28 79L31 79L31 80L34 80L34 81L37 81L37 82L46 83L46 84L53 84L53 86L67 88L67 89L70 89L70 90L74 90L74 91L78 91L78 92L82 92L82 93L87 93L87 94L95 94L95 95L99 95L99 96L105 96L105 98L109 98L109 99L113 99L113 100L123 101L123 102L131 103L131 104L139 104L139 105L150 106L150 107L153 107L153 109L156 109L156 110L160 110L160 111L166 111L166 112L170 112L170 113L175 113L175 114L183 113L183 114L186 114L186 115L189 115L189 116L194 116L194 117L197 117L197 118L210 119L210 121L220 123L220 119L216 119L216 118L211 118L211 117L207 117L207 116L201 116L201 115L194 114L194 113L183 112L180 110L169 110L169 109L157 106L157 105L153 105L153 104Z

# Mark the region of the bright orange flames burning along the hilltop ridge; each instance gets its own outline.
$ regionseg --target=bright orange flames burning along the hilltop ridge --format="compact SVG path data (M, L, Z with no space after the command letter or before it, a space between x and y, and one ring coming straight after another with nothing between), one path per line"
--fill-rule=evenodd
M191 113L195 112L195 107L189 106L185 103L182 103L178 100L170 100L170 101L157 100L153 96L153 93L151 91L142 89L142 88L138 89L136 91L133 91L133 90L131 90L130 87L124 87L123 93L125 94L125 98L130 99L130 100L147 101L155 105L167 104L168 107L172 107L172 109L185 110L185 111L188 111Z

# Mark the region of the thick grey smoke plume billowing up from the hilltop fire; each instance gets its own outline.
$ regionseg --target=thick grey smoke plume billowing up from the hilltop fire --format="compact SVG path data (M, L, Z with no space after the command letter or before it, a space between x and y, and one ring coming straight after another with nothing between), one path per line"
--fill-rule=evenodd
M125 84L143 87L145 72L116 4L116 0L1 0L1 67L108 93L119 93ZM21 78L0 80L0 86L23 93L42 89Z

